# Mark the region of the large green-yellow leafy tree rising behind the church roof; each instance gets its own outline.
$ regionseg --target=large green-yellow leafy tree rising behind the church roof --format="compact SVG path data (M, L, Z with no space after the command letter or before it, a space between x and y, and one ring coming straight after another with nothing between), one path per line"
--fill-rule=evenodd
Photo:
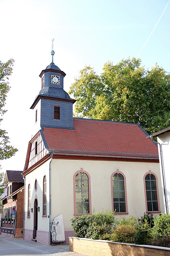
M149 71L140 59L107 62L100 76L85 66L69 93L76 116L138 123L149 134L170 126L170 74L157 64Z

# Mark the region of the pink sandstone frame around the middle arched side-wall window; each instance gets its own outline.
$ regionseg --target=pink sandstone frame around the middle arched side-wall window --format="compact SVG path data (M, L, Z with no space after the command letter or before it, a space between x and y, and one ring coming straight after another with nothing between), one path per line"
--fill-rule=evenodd
M113 201L113 183L112 183L112 177L114 174L121 174L124 178L124 189L125 189L125 209L126 212L115 212L115 214L118 215L128 215L128 199L127 199L127 186L126 186L126 176L123 172L120 172L119 169L116 170L116 172L113 172L111 174L111 198L112 198L112 211L114 212L114 201Z

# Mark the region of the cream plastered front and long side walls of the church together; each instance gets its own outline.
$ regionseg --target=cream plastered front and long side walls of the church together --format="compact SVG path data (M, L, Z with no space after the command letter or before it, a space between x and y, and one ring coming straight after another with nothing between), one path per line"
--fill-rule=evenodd
M35 199L38 199L38 231L37 242L48 244L49 231L49 162L26 175L26 213L25 213L25 239L33 238L34 212L28 209L28 185L31 188L31 208L34 209ZM140 217L146 212L144 196L144 175L151 170L158 177L158 190L160 198L160 210L164 212L162 186L159 163L144 162L118 162L118 161L90 161L90 160L62 160L53 159L51 162L51 222L62 214L65 230L65 239L73 235L70 219L74 216L73 175L83 168L91 178L91 202L92 211L104 211L112 209L111 175L117 169L126 177L128 215ZM47 216L42 217L42 190L43 177L46 175L47 183ZM35 180L38 181L38 189L35 191ZM127 215L126 215L127 216Z

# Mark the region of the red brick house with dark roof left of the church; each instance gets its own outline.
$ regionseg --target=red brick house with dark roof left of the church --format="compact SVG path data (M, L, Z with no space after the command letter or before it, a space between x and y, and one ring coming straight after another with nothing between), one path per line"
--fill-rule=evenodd
M1 235L23 237L24 179L22 171L6 171L6 196L2 198ZM15 219L12 211L15 209Z

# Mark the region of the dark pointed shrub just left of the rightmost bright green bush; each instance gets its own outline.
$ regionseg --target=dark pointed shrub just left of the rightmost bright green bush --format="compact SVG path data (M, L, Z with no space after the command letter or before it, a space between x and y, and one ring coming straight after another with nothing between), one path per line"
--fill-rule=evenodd
M152 244L151 227L147 219L137 226L134 244Z

